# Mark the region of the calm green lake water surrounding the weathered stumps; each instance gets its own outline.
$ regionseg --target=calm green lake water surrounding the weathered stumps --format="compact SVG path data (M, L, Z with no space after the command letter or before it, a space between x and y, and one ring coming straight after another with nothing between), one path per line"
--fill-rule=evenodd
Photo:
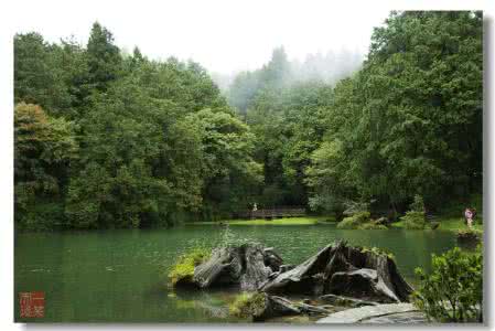
M195 244L213 246L216 225L169 229L122 229L15 235L15 320L34 322L237 322L225 316L228 291L174 291L166 274ZM430 268L432 253L455 245L446 231L357 231L334 225L230 226L237 237L272 246L284 263L298 264L335 239L394 253L415 284L413 269ZM19 319L20 291L45 292L43 319Z

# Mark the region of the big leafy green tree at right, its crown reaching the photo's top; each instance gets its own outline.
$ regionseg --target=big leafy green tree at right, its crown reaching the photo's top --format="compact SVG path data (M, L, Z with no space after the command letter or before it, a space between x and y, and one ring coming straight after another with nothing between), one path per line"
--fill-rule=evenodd
M375 30L363 70L335 89L325 145L342 147L336 175L358 196L434 209L481 186L482 32L477 12L394 12Z

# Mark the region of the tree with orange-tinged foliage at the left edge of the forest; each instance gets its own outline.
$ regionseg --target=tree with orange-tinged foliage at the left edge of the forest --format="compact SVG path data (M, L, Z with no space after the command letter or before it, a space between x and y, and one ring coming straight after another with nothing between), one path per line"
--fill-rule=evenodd
M63 227L71 162L77 157L74 127L36 105L14 109L15 221L20 228Z

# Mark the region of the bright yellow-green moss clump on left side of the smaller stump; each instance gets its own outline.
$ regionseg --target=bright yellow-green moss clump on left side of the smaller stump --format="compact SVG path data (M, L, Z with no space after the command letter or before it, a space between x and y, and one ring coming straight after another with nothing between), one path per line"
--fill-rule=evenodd
M211 254L212 252L207 248L196 247L181 255L169 273L170 284L175 286L177 282L191 281L194 276L194 267L207 260Z

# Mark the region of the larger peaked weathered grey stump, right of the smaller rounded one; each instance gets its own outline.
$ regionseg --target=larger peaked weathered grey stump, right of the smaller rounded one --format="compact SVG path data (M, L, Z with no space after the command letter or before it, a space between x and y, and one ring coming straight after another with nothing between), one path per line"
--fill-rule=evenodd
M385 254L326 246L293 269L268 279L259 288L271 293L344 295L376 302L408 301L412 288Z

